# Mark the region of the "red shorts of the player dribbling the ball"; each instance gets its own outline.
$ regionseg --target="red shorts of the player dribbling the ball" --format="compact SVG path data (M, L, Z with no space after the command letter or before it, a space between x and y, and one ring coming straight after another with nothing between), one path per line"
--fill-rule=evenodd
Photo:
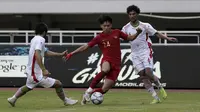
M105 61L108 61L108 60L102 60L101 66L102 66L102 63L105 62ZM113 80L115 82L115 81L117 81L117 77L120 73L121 67L112 64L110 61L108 61L108 62L111 64L111 68L110 68L110 71L108 72L108 74L106 75L105 78Z

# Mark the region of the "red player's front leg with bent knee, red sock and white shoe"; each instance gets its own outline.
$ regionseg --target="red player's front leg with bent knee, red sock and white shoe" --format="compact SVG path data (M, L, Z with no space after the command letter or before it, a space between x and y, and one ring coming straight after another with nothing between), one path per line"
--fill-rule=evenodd
M90 87L83 94L82 101L81 101L82 105L85 105L87 102L90 101L90 95L93 92L93 89L106 76L106 74L109 71L110 71L110 63L107 62L107 61L104 61L102 63L102 70L101 70L101 72L95 76L95 78L90 83Z

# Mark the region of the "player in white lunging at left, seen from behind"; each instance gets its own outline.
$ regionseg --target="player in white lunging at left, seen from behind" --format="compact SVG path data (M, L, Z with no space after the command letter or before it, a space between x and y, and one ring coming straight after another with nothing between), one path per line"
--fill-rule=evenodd
M52 52L45 48L45 39L48 31L48 27L45 23L39 23L35 29L35 37L31 40L28 64L27 64L27 80L26 85L20 87L17 92L10 98L8 102L11 106L15 106L18 98L31 91L36 86L42 86L45 88L54 87L58 97L64 102L64 105L76 104L77 100L72 100L66 97L62 88L62 83L59 80L50 78L50 72L45 68L43 63L44 56L64 56L67 51L62 53Z

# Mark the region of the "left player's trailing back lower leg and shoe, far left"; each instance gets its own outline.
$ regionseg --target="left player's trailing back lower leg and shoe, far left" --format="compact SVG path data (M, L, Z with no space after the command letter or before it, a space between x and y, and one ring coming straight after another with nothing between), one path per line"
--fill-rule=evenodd
M8 98L8 102L10 103L10 105L12 107L15 106L15 103L17 101L18 98L20 98L21 96L25 95L27 92L31 91L32 89L29 89L26 85L20 87L17 92L10 98Z

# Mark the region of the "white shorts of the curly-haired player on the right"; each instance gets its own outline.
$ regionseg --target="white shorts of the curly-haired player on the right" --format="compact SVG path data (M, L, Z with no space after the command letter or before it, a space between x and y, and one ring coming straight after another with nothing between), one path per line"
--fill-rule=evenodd
M136 74L145 68L153 69L153 57L149 55L134 56L132 57L132 63Z

